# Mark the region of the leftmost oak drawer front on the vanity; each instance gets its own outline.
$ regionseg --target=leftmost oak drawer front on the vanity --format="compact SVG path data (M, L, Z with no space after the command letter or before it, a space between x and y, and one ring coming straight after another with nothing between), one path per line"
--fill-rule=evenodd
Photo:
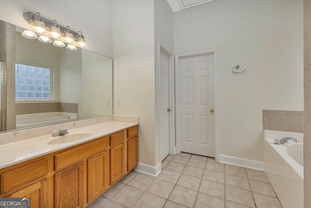
M1 194L34 181L48 173L48 159L1 174Z

